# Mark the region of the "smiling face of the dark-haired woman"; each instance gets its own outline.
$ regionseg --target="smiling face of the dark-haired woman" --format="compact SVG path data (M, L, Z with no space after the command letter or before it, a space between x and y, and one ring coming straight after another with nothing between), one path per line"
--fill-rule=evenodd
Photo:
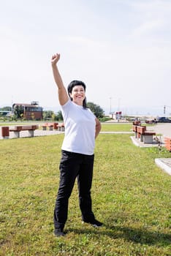
M72 101L75 102L75 104L83 106L83 100L86 98L86 92L83 86L74 86L70 97L72 97Z

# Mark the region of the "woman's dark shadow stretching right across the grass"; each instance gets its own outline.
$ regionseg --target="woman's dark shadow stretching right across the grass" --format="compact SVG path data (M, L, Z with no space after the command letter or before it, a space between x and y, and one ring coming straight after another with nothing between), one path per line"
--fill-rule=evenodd
M105 229L104 229L105 228ZM146 229L136 229L132 227L121 227L114 225L104 225L104 227L94 228L94 230L82 228L69 228L68 232L77 234L94 234L95 236L109 236L117 239L123 238L126 241L132 241L139 244L168 246L171 244L171 235L166 233L152 232Z

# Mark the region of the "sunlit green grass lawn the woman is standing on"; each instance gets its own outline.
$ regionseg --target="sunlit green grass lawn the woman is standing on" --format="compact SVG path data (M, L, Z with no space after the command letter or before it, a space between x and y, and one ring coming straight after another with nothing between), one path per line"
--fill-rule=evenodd
M170 152L138 148L130 135L96 140L91 194L104 227L82 224L75 184L67 234L53 236L63 138L0 140L0 255L170 255L170 176L154 163Z

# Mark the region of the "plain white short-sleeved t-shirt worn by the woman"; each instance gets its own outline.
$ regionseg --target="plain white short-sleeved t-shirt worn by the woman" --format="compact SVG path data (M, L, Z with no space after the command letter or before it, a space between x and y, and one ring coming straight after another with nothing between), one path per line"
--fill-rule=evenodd
M61 149L80 154L94 154L96 127L94 113L70 99L61 106L61 111L65 124L65 137Z

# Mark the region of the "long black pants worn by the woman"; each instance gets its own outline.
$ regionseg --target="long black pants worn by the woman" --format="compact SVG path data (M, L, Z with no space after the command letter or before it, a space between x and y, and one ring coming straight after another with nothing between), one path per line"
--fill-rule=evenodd
M62 151L60 163L60 184L54 211L54 226L64 228L69 197L77 178L79 203L82 219L85 222L94 220L91 207L91 184L93 178L94 154L91 156Z

